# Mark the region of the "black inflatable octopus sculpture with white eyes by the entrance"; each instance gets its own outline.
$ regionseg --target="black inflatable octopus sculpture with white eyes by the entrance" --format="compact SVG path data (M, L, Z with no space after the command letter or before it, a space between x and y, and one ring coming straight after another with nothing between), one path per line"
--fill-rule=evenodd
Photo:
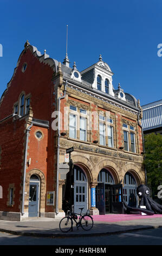
M128 206L124 201L124 211L126 214L133 214L133 212L144 212L147 215L162 214L162 205L150 197L150 188L140 185L137 187L137 194L140 199L138 208ZM141 209L140 206L146 206L146 209Z

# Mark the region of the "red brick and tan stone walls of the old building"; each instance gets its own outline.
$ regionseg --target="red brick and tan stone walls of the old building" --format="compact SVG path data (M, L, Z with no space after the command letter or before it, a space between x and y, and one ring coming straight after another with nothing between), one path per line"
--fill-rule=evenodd
M25 70L23 67L25 66ZM24 46L11 81L3 93L0 102L0 217L2 219L22 220L30 215L30 185L39 184L38 215L61 216L64 187L68 167L62 169L66 149L74 147L72 159L75 166L85 172L87 179L87 208L93 213L98 209L91 207L90 190L98 186L98 176L103 168L111 172L114 184L124 180L127 172L134 176L137 185L145 182L142 166L142 135L138 125L138 108L129 112L124 107L112 105L97 96L88 94L88 87L76 90L75 82L67 80L62 71L64 65L41 55L28 42ZM64 85L67 83L66 91ZM74 86L73 86L74 85ZM79 86L79 85L78 85ZM95 92L95 94L97 94ZM24 95L24 113L20 117L21 97ZM54 129L55 111L62 115L60 127L60 145L58 148L58 131ZM30 98L30 111L25 113L25 100ZM124 103L123 103L124 104ZM14 114L17 105L18 113ZM76 138L69 137L69 108L75 106L90 113L87 117L87 139L80 139L80 130ZM131 108L131 106L129 106ZM99 119L91 113L109 112L113 119L114 147L100 145ZM19 115L18 115L19 114ZM64 120L66 123L64 123ZM136 152L127 152L124 147L122 124L135 127ZM78 120L79 124L79 120ZM41 133L41 138L37 137ZM107 139L107 138L106 138ZM59 162L57 162L57 149ZM31 182L35 175L38 180ZM30 184L31 182L31 184ZM47 204L47 192L54 191L54 203ZM12 202L12 204L10 204ZM11 215L12 213L12 215Z

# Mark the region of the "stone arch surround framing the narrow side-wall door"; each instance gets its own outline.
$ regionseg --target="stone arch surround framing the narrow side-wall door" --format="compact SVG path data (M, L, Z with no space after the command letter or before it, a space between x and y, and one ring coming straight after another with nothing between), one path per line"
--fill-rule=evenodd
M25 212L28 212L29 205L29 185L30 185L30 177L31 175L37 175L40 178L40 206L39 206L39 216L44 217L45 215L45 206L46 206L46 178L43 172L39 169L31 169L26 174L26 182L25 182L25 191L27 191L25 197Z

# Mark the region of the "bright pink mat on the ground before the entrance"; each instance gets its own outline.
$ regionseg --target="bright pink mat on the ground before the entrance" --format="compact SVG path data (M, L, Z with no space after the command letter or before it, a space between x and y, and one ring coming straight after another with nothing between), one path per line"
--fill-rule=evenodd
M119 221L140 220L145 218L159 218L159 217L162 218L162 214L154 214L154 215L107 214L107 215L93 215L92 217L94 221L119 222Z

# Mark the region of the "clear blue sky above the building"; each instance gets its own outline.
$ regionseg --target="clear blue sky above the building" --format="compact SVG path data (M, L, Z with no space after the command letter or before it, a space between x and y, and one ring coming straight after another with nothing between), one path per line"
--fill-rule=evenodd
M82 71L99 55L112 69L113 86L140 99L160 100L161 0L0 0L0 94L7 88L28 39L43 54L63 62L66 54Z

